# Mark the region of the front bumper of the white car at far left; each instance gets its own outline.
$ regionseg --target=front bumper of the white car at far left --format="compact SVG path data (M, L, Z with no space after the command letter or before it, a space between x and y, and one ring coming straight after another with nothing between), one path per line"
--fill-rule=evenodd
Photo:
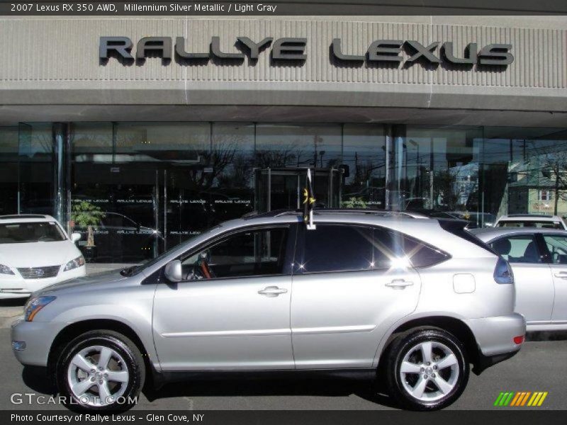
M12 268L13 275L0 274L0 300L6 298L25 298L36 290L45 288L53 283L60 283L64 280L79 278L86 274L85 266L73 268L69 271L63 271L64 264L60 266L57 276L52 278L33 278L24 279L17 269Z

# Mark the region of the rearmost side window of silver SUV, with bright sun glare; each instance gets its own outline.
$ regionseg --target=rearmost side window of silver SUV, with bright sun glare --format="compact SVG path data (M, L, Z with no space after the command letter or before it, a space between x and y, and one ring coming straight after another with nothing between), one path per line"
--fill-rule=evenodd
M376 268L427 267L449 259L449 254L404 234L386 229L374 232Z

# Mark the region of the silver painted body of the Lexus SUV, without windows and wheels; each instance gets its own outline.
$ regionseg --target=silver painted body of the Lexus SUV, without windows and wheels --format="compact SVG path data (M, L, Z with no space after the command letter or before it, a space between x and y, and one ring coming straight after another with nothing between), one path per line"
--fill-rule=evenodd
M231 220L134 276L107 273L45 288L35 295L57 299L33 322L13 325L12 340L28 344L14 353L23 364L47 365L52 341L64 327L111 319L135 331L157 371L370 368L378 365L396 328L432 316L462 320L486 356L520 349L512 339L524 334L525 323L513 312L514 285L495 283L498 257L445 231L437 220L315 216L316 224L388 227L451 255L427 268L146 283L167 262L210 238L296 222L295 215ZM461 273L473 276L472 292L455 290L454 275ZM259 294L274 286L279 295Z

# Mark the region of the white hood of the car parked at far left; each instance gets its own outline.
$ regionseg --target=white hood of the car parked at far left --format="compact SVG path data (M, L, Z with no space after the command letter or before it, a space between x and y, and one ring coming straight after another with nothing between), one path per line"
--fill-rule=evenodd
M72 242L0 244L0 264L11 267L61 266L81 252Z

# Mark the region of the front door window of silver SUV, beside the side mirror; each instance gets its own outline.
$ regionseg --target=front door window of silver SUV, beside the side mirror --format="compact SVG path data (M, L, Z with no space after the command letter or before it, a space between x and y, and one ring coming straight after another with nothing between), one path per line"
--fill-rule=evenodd
M256 229L238 232L184 259L184 272L191 279L193 269L198 278L203 261L212 278L269 276L281 274L286 255L288 229Z

